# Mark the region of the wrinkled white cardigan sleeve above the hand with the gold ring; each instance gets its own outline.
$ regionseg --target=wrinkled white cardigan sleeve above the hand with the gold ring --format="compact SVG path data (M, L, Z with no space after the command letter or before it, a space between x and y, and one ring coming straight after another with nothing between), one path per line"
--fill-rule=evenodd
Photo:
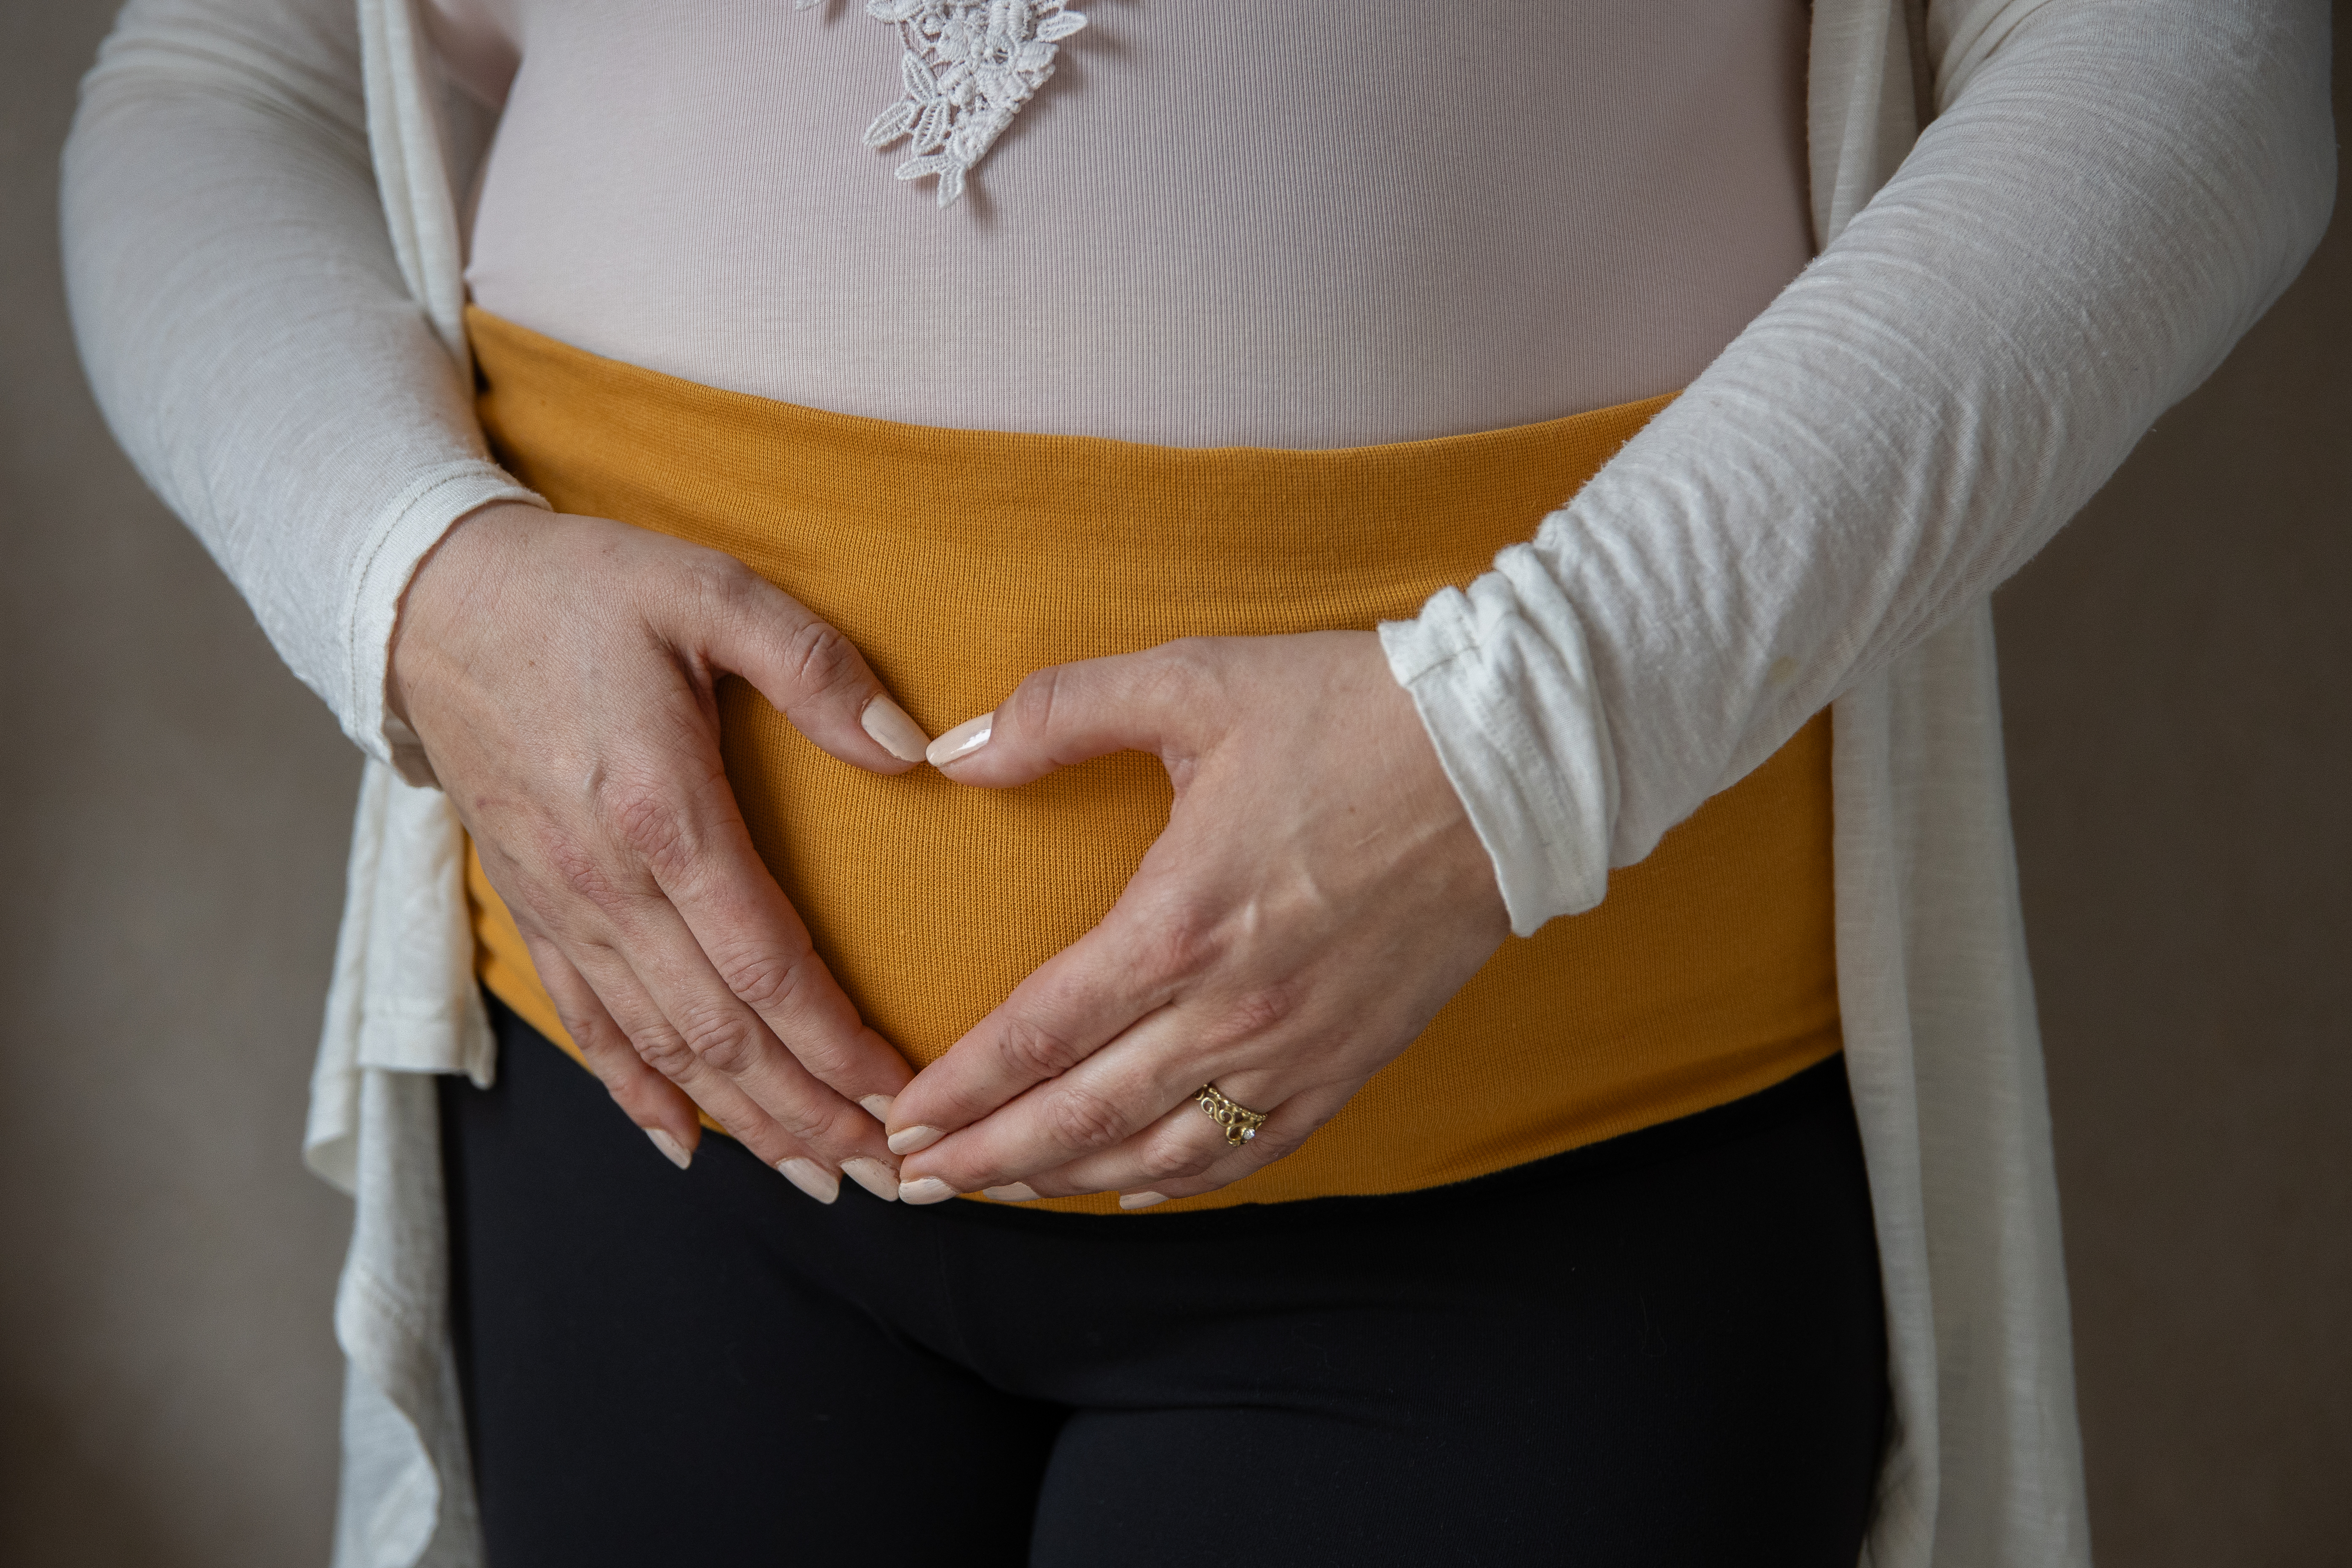
M1823 254L1381 628L1522 936L2023 567L2326 228L2319 0L1973 0L1922 42L1940 113Z

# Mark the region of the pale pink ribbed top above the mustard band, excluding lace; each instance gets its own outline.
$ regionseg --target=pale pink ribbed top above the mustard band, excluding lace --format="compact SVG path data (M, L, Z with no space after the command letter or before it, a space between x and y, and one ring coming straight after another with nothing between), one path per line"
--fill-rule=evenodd
M1350 447L1689 383L1811 256L1802 0L1075 0L953 207L856 0L428 0L473 299L929 425Z

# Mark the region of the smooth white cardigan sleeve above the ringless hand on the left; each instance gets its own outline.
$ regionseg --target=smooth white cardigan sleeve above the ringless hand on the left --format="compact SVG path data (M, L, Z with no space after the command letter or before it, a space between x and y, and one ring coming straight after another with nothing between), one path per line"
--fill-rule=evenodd
M489 501L470 388L402 284L353 0L132 0L82 82L66 282L99 407L372 757L416 562Z

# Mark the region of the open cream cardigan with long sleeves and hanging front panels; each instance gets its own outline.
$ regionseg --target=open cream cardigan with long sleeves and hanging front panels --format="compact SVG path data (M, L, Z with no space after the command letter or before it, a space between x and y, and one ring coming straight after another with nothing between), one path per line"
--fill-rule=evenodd
M308 1128L358 1199L334 1561L470 1566L426 1074L494 1063L456 818L383 670L433 541L529 496L466 397L477 127L412 0L355 21L132 0L66 249L125 449L372 757ZM1820 259L1536 541L1383 628L1519 931L1837 703L1896 1406L1870 1563L2089 1556L1987 592L2310 254L2326 59L2321 0L1816 0Z

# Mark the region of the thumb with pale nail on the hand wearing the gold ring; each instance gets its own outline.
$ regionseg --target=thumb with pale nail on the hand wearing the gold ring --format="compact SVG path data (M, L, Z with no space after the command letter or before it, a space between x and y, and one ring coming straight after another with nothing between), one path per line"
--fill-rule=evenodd
M1216 703L1214 644L1169 642L1049 665L1009 698L931 743L929 759L955 783L1004 788L1110 752L1152 752L1169 766L1195 750Z

